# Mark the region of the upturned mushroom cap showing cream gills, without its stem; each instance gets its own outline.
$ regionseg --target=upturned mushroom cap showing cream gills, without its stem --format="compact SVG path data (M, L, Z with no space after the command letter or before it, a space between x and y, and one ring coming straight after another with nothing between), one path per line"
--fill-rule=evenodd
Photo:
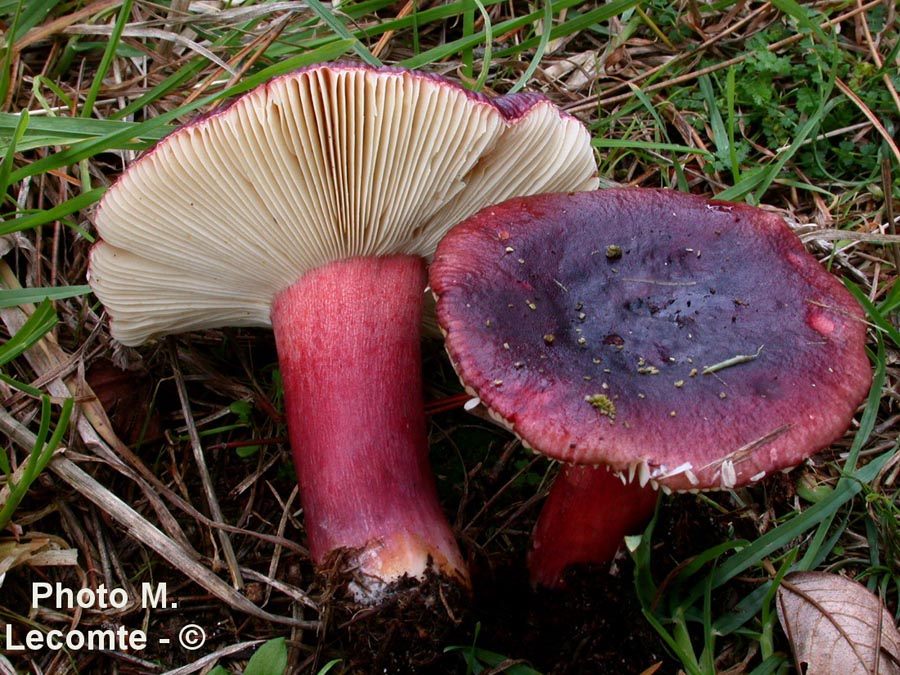
M113 335L269 326L275 295L354 256L430 255L488 203L590 189L590 136L546 98L400 68L277 77L179 128L96 214L89 281Z

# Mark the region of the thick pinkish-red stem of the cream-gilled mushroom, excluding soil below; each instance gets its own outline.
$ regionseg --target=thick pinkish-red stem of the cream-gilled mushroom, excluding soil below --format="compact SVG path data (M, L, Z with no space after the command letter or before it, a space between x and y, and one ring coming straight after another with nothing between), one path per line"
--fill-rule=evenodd
M357 600L404 575L467 584L428 462L417 256L357 257L305 273L272 324L313 561L344 556Z

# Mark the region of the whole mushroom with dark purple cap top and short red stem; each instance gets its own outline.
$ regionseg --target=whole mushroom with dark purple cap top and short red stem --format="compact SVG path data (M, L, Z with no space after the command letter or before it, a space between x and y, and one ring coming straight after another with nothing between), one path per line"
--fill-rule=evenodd
M652 490L799 464L871 383L856 301L746 205L641 188L512 199L453 228L430 280L450 359L491 416L612 472L566 468L553 486L529 556L547 586L611 557Z

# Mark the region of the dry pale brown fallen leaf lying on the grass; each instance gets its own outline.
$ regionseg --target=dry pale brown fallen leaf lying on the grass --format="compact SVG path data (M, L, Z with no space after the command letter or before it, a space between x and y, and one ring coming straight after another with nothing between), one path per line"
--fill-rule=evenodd
M828 572L792 572L778 589L778 619L800 673L900 675L900 632L862 584Z

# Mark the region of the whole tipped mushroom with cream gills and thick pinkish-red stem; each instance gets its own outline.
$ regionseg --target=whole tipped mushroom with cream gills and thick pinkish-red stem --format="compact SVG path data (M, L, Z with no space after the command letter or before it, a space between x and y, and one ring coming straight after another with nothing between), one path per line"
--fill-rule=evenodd
M400 68L320 65L181 127L96 214L90 283L125 345L272 326L311 556L375 604L468 575L428 467L425 257L495 199L597 184L585 128Z

